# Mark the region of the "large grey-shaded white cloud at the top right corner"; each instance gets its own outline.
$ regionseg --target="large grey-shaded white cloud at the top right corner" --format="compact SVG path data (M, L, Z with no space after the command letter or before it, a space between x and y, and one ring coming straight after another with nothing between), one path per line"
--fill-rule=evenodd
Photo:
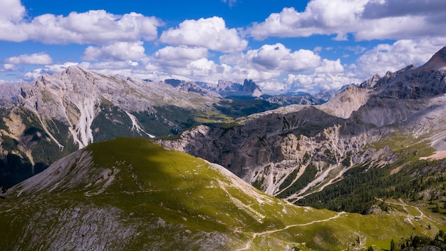
M335 40L411 39L438 36L446 24L446 1L313 0L304 11L284 8L247 34L263 40L271 36L306 37L336 34Z

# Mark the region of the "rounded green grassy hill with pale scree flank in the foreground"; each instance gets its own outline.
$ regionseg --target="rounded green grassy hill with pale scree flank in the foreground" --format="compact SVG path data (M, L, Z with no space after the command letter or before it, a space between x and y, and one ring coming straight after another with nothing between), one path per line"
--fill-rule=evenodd
M413 216L298 207L222 166L116 138L2 195L0 250L378 250L439 232L435 221Z

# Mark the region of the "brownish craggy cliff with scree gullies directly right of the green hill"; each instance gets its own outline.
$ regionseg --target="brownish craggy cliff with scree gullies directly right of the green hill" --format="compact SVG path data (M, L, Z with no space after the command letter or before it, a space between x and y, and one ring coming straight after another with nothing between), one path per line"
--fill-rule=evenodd
M199 126L183 133L181 140L160 143L219 163L266 193L280 195L291 185L286 178L302 174L308 165L316 166L317 175L301 193L331 183L351 165L370 158L373 153L359 152L379 137L378 132L307 106L294 113L269 113L243 126ZM341 165L347 156L351 160Z

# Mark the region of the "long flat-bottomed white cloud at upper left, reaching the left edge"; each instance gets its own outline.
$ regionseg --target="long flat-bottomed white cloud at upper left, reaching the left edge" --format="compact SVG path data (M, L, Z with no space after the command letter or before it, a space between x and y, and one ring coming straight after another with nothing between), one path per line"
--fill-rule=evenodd
M14 8L11 8L19 11L0 18L0 40L99 45L110 41L152 41L157 39L157 27L163 25L153 16L135 12L115 15L104 10L71 12L68 16L43 14L28 21L23 19L23 11L20 12L23 6L20 3L15 1Z

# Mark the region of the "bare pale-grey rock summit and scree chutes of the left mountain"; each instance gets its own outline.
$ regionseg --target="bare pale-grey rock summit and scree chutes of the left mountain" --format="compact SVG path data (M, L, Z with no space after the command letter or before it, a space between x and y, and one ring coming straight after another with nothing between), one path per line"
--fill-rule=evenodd
M33 84L23 86L19 98L20 105L36 115L66 123L79 148L93 142L92 124L101 111L101 104L111 103L125 111L134 122L130 126L140 132L147 130L147 135L152 132L142 129L130 113L156 113L154 106L165 103L182 108L201 108L214 103L211 96L178 92L162 83L106 77L76 66L60 75L42 76Z

